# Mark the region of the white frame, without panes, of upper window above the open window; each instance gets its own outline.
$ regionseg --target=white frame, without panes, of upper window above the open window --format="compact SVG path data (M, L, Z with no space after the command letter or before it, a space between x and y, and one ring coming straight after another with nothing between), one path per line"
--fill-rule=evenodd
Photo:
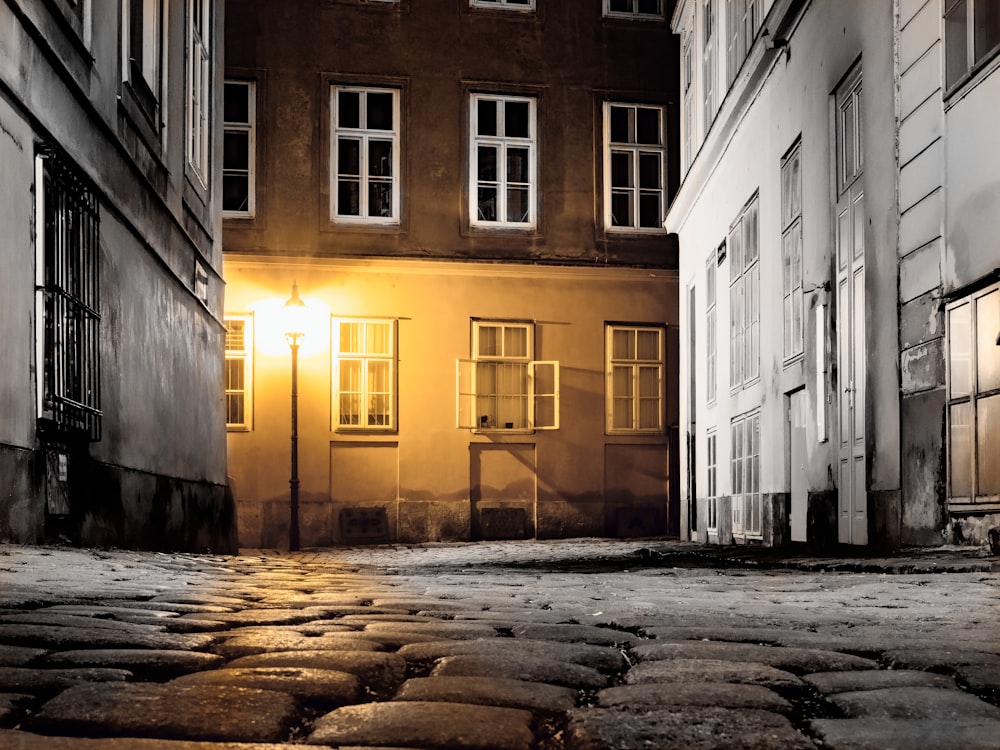
M479 134L479 105L491 101L497 105L497 130L502 130L504 124L504 108L507 103L526 103L528 105L528 136L506 136L502 132L496 135ZM499 227L504 229L534 229L538 216L538 102L529 96L507 96L498 94L471 94L469 106L469 223L473 227ZM479 179L480 148L495 148L497 150L496 180ZM528 213L524 221L507 219L507 193L512 184L518 189L524 189L525 183L512 183L507 174L508 149L527 149L528 151ZM479 190L481 186L496 189L496 219L487 220L479 216Z

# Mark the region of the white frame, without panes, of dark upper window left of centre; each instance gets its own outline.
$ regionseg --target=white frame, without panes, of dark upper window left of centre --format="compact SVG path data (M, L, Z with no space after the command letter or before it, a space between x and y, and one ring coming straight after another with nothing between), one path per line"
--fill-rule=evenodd
M358 127L346 127L339 124L339 97L338 94L356 93L359 96L359 122ZM370 128L367 124L367 97L369 94L390 94L392 96L392 129L381 130ZM366 224L394 226L400 223L400 192L402 181L400 177L400 143L402 123L400 122L401 105L400 91L396 88L373 87L373 86L348 86L333 84L330 86L330 217L336 224ZM341 210L340 202L340 152L338 144L341 139L357 140L358 149L358 172L357 175L350 175L350 182L355 178L358 184L358 213L345 213ZM370 161L370 147L372 142L388 142L391 148L389 169L390 174L372 175L369 174L368 165ZM372 210L370 201L370 188L373 184L388 185L391 190L388 216L370 215Z

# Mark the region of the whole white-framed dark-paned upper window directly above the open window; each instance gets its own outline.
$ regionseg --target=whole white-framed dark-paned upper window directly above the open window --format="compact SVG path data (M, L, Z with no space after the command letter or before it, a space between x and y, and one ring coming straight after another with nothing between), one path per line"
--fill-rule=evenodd
M472 95L469 163L473 226L535 225L535 100Z

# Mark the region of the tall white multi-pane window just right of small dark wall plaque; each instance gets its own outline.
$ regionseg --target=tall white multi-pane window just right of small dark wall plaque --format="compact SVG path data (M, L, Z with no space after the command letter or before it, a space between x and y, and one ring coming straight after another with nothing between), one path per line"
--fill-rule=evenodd
M729 385L760 376L760 253L757 196L729 229Z

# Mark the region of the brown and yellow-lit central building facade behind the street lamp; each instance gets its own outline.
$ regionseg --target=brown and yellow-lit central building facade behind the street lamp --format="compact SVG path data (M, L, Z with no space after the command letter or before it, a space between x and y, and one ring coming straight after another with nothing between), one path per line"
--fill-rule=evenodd
M665 5L227 5L242 546L676 533Z

